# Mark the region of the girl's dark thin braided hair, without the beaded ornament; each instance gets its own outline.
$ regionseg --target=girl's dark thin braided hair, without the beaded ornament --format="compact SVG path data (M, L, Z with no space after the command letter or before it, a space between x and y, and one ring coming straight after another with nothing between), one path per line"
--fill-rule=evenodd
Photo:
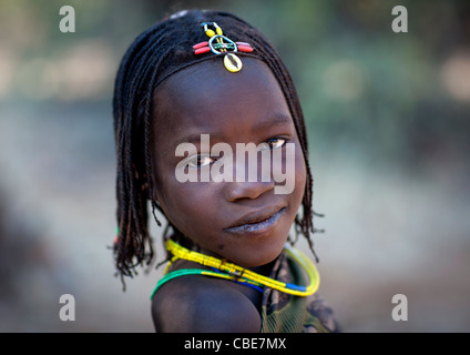
M155 215L155 210L161 209L152 199L154 187L150 158L151 113L159 104L154 102L155 88L175 72L215 57L212 53L195 55L192 50L195 43L206 40L201 23L208 21L216 22L232 40L251 43L255 50L239 54L265 62L286 98L307 170L303 213L297 214L295 229L307 239L314 252L310 232L316 230L313 226L315 213L307 134L300 102L286 67L265 37L238 17L218 11L182 11L149 28L134 40L115 79L113 116L119 235L113 252L121 277L133 276L135 266L145 262L150 264L154 257L147 227L147 200L156 223L161 225Z

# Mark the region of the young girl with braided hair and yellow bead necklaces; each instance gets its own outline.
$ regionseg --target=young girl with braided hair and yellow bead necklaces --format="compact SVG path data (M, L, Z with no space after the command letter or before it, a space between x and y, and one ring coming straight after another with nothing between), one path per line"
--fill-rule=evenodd
M157 332L337 331L315 266L287 244L294 225L313 247L307 136L290 75L256 29L196 10L156 23L125 53L113 108L122 276L153 260L147 201L168 223ZM257 152L251 164L239 146Z

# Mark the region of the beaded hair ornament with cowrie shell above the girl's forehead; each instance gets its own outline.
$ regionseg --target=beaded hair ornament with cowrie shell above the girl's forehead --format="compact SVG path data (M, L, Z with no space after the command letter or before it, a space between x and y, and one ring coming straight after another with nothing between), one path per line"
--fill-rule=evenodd
M203 22L201 26L204 28L204 32L207 34L210 40L194 44L194 54L198 55L207 52L213 52L216 55L224 54L225 68L233 73L239 71L243 67L242 60L234 53L253 52L252 45L245 42L234 42L226 38L222 28L215 22ZM212 26L215 31L210 29L210 26Z

